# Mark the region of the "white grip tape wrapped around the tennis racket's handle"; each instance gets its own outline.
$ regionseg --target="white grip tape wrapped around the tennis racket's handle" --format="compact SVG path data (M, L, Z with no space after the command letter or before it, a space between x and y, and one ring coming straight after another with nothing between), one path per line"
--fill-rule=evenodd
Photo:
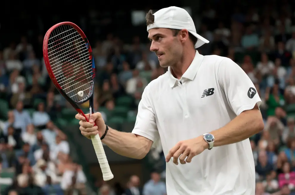
M91 111L90 111L91 116ZM105 156L105 151L103 149L103 144L101 143L99 135L91 136L91 141L100 164L101 172L103 173L103 180L108 181L114 178L110 166L108 164L108 160Z

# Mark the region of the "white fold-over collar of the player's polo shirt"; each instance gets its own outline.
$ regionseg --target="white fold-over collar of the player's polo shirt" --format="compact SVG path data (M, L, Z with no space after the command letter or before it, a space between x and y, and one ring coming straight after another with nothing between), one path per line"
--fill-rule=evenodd
M199 54L198 51L196 51L195 57L192 60L192 63L190 64L190 66L187 68L187 70L184 72L184 74L182 75L182 78L186 78L189 80L193 80L197 74L197 71L203 61L204 56ZM168 67L168 77L169 77L169 85L171 88L173 88L176 84L176 82L178 81L178 79L176 79L172 73L171 73L171 66Z

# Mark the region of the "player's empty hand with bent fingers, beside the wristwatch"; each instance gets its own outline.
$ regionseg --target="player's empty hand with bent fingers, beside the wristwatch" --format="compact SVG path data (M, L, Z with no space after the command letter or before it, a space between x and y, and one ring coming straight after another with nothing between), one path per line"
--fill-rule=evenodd
M170 149L166 157L166 162L168 163L170 158L173 157L173 163L176 165L178 165L178 158L181 164L190 163L192 162L192 157L201 154L208 147L209 145L203 136L180 141ZM186 157L187 159L185 159Z

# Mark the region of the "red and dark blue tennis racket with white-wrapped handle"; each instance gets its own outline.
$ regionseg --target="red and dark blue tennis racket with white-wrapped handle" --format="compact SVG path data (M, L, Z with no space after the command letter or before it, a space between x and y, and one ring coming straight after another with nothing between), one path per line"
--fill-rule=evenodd
M66 100L85 118L78 104L89 100L90 115L94 113L95 65L90 44L83 31L71 22L55 24L44 37L43 56L49 77ZM87 118L86 120L89 122ZM114 175L99 135L92 136L91 140L103 180L111 180Z

